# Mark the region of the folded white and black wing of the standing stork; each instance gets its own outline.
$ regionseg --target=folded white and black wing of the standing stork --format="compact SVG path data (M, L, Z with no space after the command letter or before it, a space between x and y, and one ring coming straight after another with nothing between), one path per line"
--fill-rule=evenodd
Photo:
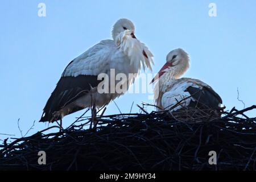
M50 121L53 113L84 96L102 81L97 80L97 76L109 69L109 53L113 48L113 40L104 40L68 64L44 107L40 122ZM71 113L81 109L75 107Z

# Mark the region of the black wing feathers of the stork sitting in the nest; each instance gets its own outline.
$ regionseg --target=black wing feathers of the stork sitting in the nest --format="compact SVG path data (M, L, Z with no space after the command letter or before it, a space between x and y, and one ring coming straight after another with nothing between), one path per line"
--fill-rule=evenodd
M222 104L221 97L207 86L203 86L203 88L189 86L186 91L196 100L189 104L191 107L218 109Z

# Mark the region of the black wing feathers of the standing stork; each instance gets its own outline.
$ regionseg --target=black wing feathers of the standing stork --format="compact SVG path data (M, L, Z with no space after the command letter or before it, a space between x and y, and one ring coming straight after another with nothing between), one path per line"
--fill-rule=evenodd
M64 106L77 100L77 98L84 96L101 81L97 80L97 76L92 75L61 77L43 109L44 112L39 122L50 121L54 112L59 111ZM77 107L71 113L81 109L83 108Z

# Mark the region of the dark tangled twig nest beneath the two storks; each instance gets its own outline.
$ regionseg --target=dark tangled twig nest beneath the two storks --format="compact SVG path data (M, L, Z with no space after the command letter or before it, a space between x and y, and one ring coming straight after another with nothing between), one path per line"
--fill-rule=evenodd
M84 129L81 122L89 120L80 118L59 133L46 129L5 144L0 169L255 170L256 118L245 115L253 109L217 118L196 109L101 116L94 129ZM38 164L39 151L46 165ZM209 164L210 151L216 165Z

